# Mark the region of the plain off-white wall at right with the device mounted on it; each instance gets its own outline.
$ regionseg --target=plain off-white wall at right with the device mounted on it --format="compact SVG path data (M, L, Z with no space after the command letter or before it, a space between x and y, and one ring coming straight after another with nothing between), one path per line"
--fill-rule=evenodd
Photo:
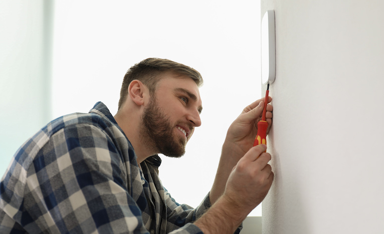
M383 233L384 2L261 6L277 58L263 233Z

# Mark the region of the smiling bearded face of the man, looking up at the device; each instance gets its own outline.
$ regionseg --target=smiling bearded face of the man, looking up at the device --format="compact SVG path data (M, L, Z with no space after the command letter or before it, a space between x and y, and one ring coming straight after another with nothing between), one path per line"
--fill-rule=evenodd
M188 77L164 75L142 115L141 137L148 147L171 157L185 153L185 145L201 125L199 88Z

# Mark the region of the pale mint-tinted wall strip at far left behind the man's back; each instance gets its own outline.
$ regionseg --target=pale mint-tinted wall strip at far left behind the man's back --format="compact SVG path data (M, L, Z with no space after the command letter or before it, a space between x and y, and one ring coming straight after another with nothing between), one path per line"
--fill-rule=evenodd
M0 177L50 106L50 1L0 1Z

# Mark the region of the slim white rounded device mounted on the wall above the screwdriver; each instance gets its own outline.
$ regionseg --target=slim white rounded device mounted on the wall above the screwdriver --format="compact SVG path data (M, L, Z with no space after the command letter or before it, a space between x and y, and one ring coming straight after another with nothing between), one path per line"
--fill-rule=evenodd
M275 12L269 10L261 22L261 81L271 84L276 75Z

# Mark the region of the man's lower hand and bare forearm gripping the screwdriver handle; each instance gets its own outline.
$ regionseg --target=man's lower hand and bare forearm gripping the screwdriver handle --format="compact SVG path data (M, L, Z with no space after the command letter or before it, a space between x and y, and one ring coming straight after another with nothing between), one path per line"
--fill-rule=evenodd
M233 233L267 195L274 174L266 148L252 147L233 168L224 194L195 222L204 233Z

